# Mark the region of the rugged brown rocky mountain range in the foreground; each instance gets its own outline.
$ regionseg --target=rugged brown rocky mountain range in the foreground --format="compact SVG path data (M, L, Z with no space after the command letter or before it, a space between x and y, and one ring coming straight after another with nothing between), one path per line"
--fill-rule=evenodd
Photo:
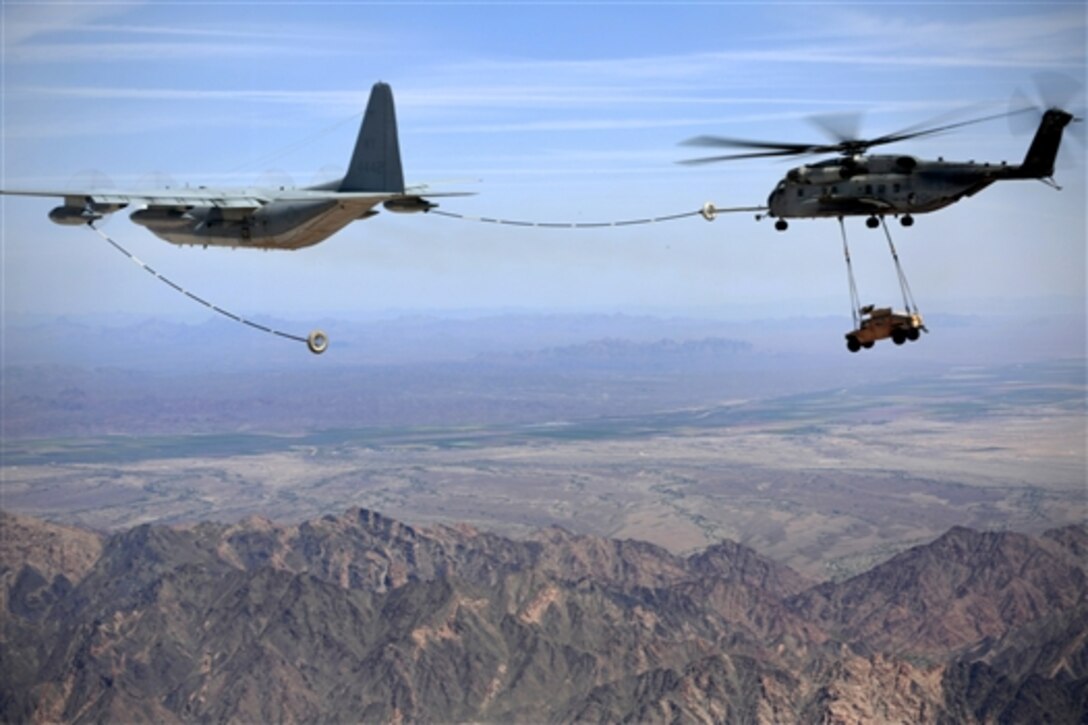
M0 718L1083 722L1088 529L952 529L841 582L366 509L140 526L3 514Z

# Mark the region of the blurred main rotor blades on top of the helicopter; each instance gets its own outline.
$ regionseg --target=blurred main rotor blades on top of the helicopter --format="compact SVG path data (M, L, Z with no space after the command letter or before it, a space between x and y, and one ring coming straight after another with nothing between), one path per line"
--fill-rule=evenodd
M1017 111L1023 112L1023 111ZM857 137L857 126L860 121L860 115L856 113L833 113L811 116L808 121L815 124L817 127L821 128L828 136L836 139L832 144L783 144L777 142L757 142L749 140L743 138L730 138L727 136L695 136L694 138L689 138L683 142L682 146L696 146L696 147L708 147L708 148L746 148L754 149L746 153L728 153L725 156L712 156L703 157L697 159L688 159L681 161L684 164L702 164L702 163L714 163L717 161L733 161L737 159L757 159L767 158L776 156L809 156L819 153L841 153L843 156L854 156L857 153L864 153L874 146L883 146L885 144L894 144L901 140L907 140L910 138L918 138L920 136L931 136L935 134L945 133L955 128L962 128L963 126L969 126L976 123L982 123L985 121L992 121L994 119L1001 119L1012 113L994 113L991 115L985 115L976 119L969 119L967 121L957 121L955 123L943 123L939 125L931 125L935 122L929 121L926 124L915 124L913 126L907 126L891 134L885 134L883 136L877 136L876 138L858 138Z

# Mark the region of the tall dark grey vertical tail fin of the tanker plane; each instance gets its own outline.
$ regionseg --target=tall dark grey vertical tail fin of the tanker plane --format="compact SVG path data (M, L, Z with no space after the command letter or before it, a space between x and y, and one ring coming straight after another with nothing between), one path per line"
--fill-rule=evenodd
M339 191L397 194L405 191L397 115L393 108L393 89L388 84L375 83L370 90L351 164L341 181Z

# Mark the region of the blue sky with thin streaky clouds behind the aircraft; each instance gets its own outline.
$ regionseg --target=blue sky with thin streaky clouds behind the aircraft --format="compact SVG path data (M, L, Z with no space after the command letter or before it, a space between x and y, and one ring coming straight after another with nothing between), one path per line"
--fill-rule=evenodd
M406 176L443 208L605 221L761 204L789 163L708 167L701 134L821 142L806 116L864 111L879 135L992 113L1039 72L1086 65L1084 2L10 2L0 185L108 177L305 185L342 172L370 86L393 86ZM1084 111L1084 94L1075 110ZM1084 124L1074 133L1084 135ZM1018 162L997 121L892 147ZM697 152L696 152L697 155ZM1085 298L1085 147L1055 192L999 184L892 228L925 310ZM207 310L140 272L51 199L0 197L5 321ZM751 214L606 231L382 213L295 253L175 248L122 212L106 231L247 315L529 309L849 316L837 224ZM882 237L850 226L865 300L898 299Z

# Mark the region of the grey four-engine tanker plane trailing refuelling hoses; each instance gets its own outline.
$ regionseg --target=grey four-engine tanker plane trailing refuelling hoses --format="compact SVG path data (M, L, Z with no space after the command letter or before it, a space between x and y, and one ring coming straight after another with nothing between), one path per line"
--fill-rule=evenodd
M339 181L307 188L0 189L0 194L63 197L63 206L49 212L58 224L87 224L133 206L139 207L129 217L133 222L173 244L300 249L357 219L373 217L380 205L396 212L428 211L437 205L420 195L424 188L405 187L393 90L376 83L351 163Z

